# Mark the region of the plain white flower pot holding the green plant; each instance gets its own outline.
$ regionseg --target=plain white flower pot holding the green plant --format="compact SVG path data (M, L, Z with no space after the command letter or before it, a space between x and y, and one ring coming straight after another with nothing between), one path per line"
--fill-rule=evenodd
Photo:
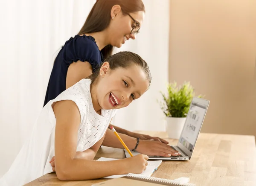
M166 117L166 131L169 138L179 139L186 118Z

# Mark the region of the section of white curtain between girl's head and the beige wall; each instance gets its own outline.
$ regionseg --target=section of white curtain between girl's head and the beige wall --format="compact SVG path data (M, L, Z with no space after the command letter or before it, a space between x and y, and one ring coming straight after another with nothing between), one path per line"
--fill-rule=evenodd
M169 64L169 0L143 0L145 19L136 40L126 41L117 51L139 54L149 65L152 82L149 90L127 108L120 109L114 125L134 131L164 131L165 118L157 100L165 92Z

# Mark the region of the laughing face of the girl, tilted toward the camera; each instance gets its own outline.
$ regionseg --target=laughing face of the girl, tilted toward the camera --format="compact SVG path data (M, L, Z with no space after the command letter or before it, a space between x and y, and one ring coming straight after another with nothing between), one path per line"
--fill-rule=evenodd
M99 106L103 109L127 107L140 98L149 86L144 71L137 65L111 70L109 63L105 62L99 76L96 94Z

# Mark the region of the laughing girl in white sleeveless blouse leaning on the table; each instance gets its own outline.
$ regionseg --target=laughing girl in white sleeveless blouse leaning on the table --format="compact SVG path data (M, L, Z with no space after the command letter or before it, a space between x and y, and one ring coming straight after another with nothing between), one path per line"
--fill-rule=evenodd
M113 174L141 173L148 156L93 161L116 109L127 107L148 90L147 63L132 52L112 55L89 78L49 101L32 136L23 145L1 186L20 186L52 172L55 157L60 180L87 180Z

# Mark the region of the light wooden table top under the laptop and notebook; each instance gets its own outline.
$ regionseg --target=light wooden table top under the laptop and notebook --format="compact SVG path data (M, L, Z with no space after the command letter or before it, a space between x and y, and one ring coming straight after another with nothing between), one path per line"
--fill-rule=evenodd
M164 132L143 132L166 139ZM177 140L167 139L170 145ZM122 149L102 146L97 157L124 158ZM256 186L256 145L254 136L199 134L195 151L188 161L163 161L153 177L189 177L196 186ZM26 186L91 186L107 179L60 181L55 173L46 174Z

